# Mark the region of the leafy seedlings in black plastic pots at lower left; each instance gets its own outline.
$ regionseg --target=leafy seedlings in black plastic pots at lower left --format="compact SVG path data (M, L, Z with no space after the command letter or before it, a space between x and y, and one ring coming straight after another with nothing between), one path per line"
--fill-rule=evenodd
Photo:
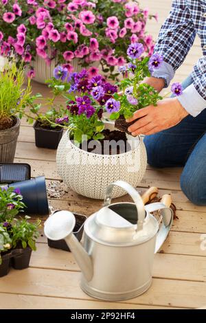
M25 208L19 188L0 189L0 276L8 274L10 266L24 269L29 266L32 250L41 221L30 223L29 216L16 219Z

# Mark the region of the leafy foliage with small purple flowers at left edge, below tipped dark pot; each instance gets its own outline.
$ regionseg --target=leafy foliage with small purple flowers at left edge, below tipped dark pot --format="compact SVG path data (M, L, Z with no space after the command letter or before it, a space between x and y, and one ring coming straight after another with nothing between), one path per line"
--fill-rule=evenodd
M12 221L25 208L22 199L22 195L14 192L14 188L0 188L0 223Z

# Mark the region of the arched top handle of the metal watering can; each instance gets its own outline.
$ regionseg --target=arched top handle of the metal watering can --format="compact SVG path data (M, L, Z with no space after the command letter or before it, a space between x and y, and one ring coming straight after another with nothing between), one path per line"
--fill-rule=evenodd
M108 206L111 204L112 192L113 192L114 186L119 186L120 188L123 188L135 202L135 205L137 207L137 214L138 214L137 231L142 230L145 214L146 214L145 206L137 190L135 190L135 188L133 188L133 186L131 186L130 184L126 183L126 181L115 181L114 183L111 183L108 186L108 188L106 188L104 206Z

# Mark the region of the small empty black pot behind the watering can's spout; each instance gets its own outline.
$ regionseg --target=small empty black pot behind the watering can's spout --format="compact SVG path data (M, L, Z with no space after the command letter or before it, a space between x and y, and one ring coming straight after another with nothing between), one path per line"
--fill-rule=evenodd
M87 220L87 216L78 213L73 213L73 215L76 217L76 225L73 228L73 234L76 236L76 238L78 238L78 241L80 241L84 231L84 222ZM48 246L51 248L65 250L65 252L71 252L66 241L63 239L58 241L47 239L47 242Z

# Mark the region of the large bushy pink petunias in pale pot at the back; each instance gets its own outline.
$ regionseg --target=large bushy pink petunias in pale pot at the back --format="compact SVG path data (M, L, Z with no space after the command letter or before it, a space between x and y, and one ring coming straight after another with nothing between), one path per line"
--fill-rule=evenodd
M58 64L69 71L92 65L91 75L101 64L115 78L115 66L124 64L131 40L138 39L152 54L154 42L146 34L152 17L157 14L141 9L137 0L2 1L1 54L13 50L38 82L52 77Z

